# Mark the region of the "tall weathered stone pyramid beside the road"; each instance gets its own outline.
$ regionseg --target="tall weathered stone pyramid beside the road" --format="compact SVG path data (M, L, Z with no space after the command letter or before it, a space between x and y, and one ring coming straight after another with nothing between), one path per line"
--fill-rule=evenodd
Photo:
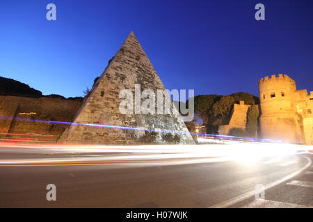
M85 99L72 124L61 137L61 142L73 144L140 144L145 130L84 126L92 123L151 130L181 131L179 144L193 144L193 139L178 113L176 114L122 114L119 110L120 91L140 84L144 89L164 89L159 75L152 67L133 32L109 62ZM157 94L157 93L156 93ZM172 112L171 112L172 113ZM182 133L183 132L183 133ZM163 143L161 133L157 142Z

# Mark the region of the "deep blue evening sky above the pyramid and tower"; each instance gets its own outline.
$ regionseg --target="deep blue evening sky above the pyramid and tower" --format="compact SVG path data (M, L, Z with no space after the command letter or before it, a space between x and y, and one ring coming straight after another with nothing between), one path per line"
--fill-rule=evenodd
M47 21L47 3L57 20ZM255 20L264 3L266 21ZM134 31L168 89L257 95L288 74L313 90L313 1L1 0L0 76L82 96Z

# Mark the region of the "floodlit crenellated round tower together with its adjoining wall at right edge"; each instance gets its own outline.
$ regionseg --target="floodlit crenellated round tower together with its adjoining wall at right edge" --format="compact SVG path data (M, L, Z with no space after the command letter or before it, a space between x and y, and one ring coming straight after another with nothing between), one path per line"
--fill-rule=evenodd
M264 138L313 145L313 91L297 90L287 75L259 80L260 133Z

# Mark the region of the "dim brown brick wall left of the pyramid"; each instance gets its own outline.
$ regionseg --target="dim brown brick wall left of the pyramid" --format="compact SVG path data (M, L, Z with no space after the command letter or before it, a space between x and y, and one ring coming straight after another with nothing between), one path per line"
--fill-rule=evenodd
M0 133L60 137L67 125L39 123L36 120L71 122L80 105L79 101L65 99L0 96L0 116L10 117L9 119L0 118ZM13 119L15 117L30 121L19 121Z

